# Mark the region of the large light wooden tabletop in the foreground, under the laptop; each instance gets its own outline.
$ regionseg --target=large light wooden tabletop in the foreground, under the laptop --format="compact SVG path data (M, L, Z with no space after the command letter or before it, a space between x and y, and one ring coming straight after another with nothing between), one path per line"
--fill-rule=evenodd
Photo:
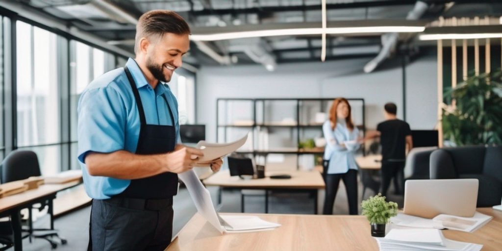
M445 237L483 244L483 251L502 247L502 212L478 208L494 216L473 233L443 230ZM379 250L364 216L259 214L282 224L271 231L220 234L199 214L190 219L166 250Z

